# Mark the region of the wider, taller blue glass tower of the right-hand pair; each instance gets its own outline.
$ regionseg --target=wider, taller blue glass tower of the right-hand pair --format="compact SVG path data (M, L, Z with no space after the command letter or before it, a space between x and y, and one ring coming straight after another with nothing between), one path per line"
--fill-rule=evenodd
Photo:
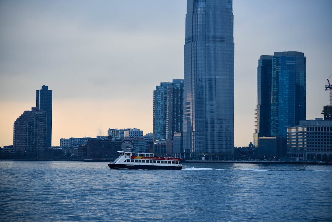
M271 136L287 136L287 126L306 118L306 63L301 52L272 57Z

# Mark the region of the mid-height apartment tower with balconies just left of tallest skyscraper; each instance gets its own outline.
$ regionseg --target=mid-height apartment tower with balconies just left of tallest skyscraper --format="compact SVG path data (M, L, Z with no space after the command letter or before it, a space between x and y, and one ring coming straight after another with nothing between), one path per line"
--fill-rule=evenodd
M160 83L153 91L153 140L173 140L173 132L182 129L183 80Z

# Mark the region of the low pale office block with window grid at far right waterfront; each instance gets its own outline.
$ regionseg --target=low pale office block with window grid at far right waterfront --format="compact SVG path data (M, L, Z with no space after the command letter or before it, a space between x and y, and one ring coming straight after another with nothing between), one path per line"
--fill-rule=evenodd
M332 161L332 120L316 118L288 126L287 157Z

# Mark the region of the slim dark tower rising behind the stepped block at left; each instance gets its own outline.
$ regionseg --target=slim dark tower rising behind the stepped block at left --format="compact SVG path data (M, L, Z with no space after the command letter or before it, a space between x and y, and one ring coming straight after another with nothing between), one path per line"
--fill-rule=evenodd
M36 108L46 112L46 147L52 146L52 90L42 86L36 91Z

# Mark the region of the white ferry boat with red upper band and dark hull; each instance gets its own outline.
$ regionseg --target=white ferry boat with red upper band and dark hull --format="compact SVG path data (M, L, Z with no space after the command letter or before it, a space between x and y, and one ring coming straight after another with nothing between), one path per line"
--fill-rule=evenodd
M129 151L118 151L118 153L119 157L108 164L111 169L182 169L180 164L182 158L158 157L153 153Z

